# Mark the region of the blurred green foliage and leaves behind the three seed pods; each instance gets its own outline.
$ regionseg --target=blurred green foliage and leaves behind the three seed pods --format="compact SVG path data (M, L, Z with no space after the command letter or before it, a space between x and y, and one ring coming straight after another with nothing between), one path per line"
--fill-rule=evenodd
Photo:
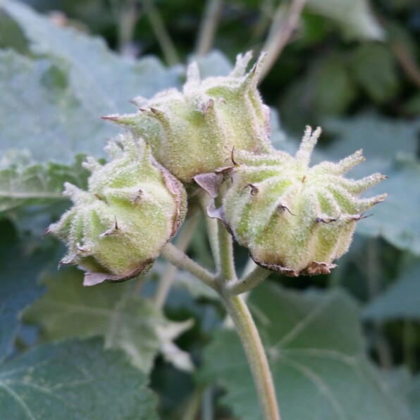
M259 418L211 290L178 271L163 307L163 261L82 288L41 235L68 206L63 182L84 187L85 154L103 158L117 132L100 116L180 87L193 51L205 77L228 73L238 52L276 50L290 3L26 3L35 9L0 2L0 417ZM271 54L261 92L276 147L322 125L316 159L363 147L352 175L386 173L377 189L390 194L330 276L273 274L249 298L286 420L420 418L419 45L415 0L308 0ZM212 268L201 222L189 253Z

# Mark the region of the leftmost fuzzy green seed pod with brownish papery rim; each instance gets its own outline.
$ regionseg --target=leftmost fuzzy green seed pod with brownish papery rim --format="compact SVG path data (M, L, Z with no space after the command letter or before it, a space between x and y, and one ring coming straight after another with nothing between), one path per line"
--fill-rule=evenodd
M126 135L111 141L107 152L113 160L105 165L87 159L87 192L66 184L64 194L74 205L47 229L66 242L61 264L87 271L85 285L147 272L185 218L183 185L147 144Z

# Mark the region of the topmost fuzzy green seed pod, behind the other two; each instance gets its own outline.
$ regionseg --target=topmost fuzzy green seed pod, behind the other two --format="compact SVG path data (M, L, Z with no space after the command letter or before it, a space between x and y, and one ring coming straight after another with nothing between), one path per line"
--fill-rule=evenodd
M257 90L264 55L245 74L251 56L237 56L230 75L204 80L192 63L183 92L168 89L149 100L137 98L139 113L104 118L143 137L156 160L185 183L226 166L233 149L267 152L269 109Z

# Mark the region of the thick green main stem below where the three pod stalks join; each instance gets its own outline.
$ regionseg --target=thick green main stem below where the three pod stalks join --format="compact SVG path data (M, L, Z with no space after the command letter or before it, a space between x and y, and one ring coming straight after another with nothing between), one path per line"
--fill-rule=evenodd
M280 420L276 391L268 360L249 309L241 296L222 296L222 299L247 355L263 417L265 420Z

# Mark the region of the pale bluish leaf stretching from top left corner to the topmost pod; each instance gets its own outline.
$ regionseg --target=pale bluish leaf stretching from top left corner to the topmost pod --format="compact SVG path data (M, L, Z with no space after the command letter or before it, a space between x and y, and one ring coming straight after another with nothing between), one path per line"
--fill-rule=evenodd
M18 1L3 0L0 7L20 25L34 54L67 63L76 97L97 117L131 111L130 99L151 97L180 83L181 67L166 69L156 58L133 61L117 56L102 39L58 27ZM80 137L87 134L79 132Z

